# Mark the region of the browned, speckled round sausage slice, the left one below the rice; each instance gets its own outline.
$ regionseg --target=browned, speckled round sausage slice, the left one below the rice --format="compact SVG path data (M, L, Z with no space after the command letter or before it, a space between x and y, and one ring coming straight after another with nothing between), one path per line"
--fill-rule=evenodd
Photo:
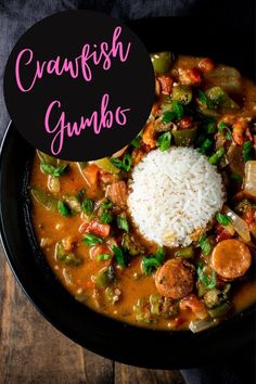
M161 295L182 298L194 285L194 267L180 257L167 260L155 274L155 285Z

